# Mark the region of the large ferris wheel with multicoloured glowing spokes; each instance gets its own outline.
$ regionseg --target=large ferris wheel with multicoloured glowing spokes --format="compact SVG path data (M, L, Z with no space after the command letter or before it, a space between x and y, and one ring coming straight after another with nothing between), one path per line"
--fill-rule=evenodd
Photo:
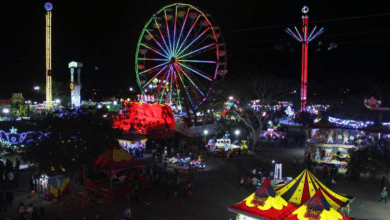
M144 26L135 54L144 95L177 115L196 110L228 72L226 46L210 14L189 4L161 8Z

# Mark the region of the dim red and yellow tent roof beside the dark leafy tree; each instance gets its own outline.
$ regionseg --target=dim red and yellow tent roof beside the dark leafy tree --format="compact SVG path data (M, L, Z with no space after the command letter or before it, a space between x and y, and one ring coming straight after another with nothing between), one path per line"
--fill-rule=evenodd
M105 152L92 161L92 164L108 175L114 175L128 168L145 167L142 161L134 159L119 146L119 143L110 144Z

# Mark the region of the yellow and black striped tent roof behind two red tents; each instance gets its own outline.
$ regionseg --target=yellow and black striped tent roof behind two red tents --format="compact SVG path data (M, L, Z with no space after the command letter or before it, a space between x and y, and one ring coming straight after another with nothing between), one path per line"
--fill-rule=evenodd
M275 191L289 203L301 206L309 201L318 189L322 190L326 201L338 212L353 200L353 197L342 196L331 191L307 169L295 179L276 188Z

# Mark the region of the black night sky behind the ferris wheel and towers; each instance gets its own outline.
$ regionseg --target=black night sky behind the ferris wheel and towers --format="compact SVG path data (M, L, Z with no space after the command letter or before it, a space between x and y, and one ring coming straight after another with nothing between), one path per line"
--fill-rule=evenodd
M45 83L45 1L4 0L0 7L0 94L33 93ZM106 96L136 87L134 54L147 20L167 0L53 0L53 80L68 85L68 63L84 64L85 98L93 88ZM301 25L307 4L309 26L326 31L309 47L309 81L390 80L390 10L373 1L198 0L218 22L227 45L229 75L266 70L278 77L300 79L301 47L286 27ZM318 41L325 44L320 50ZM334 42L337 49L327 50ZM293 52L287 52L290 43ZM285 49L274 48L281 44ZM95 70L98 67L98 70ZM66 86L68 88L68 86ZM70 93L70 91L69 91ZM0 97L7 98L7 97ZM84 97L83 97L84 98Z

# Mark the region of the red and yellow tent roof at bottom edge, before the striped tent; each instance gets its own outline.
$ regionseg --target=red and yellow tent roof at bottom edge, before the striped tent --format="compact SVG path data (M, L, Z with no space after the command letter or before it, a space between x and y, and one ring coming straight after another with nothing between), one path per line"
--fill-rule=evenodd
M352 220L354 218L349 218L341 215L332 206L328 203L325 192L323 189L317 189L314 196L309 199L304 205L300 206L298 209L292 212L286 220Z

